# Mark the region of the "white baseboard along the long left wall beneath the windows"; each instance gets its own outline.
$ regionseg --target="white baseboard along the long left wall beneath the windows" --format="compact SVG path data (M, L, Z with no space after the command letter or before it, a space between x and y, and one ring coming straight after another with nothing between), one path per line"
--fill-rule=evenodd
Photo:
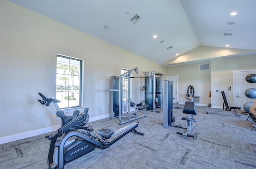
M93 121L100 120L100 119L103 119L103 118L108 118L108 117L110 117L109 114L93 117L93 118L89 119L89 122L93 122ZM16 141L16 140L20 140L20 139L24 139L24 138L29 138L29 137L32 137L32 136L37 136L39 134L54 132L54 131L58 130L60 127L61 127L61 125L57 125L57 126L52 126L52 127L48 127L48 128L43 128L43 129L39 129L39 130L30 131L30 132L15 134L15 135L12 135L12 136L2 137L2 138L0 138L0 144L9 143L11 141Z

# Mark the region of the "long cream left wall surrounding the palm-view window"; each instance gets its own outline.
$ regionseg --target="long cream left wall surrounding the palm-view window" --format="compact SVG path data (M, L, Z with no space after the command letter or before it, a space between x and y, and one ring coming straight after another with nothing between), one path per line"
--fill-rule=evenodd
M121 68L165 73L166 68L9 1L0 1L0 143L56 130L56 54L84 59L83 106L91 120L109 116L111 76ZM101 108L104 108L102 110ZM36 131L36 132L32 132Z

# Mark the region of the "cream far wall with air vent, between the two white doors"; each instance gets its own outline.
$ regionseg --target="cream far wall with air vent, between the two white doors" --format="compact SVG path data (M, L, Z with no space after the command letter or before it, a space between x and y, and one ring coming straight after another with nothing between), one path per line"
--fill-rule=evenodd
M206 62L209 63L209 62ZM203 63L200 63L203 64ZM207 105L211 102L212 107L222 108L223 98L220 92L224 90L230 105L234 104L233 71L256 69L256 55L240 56L210 61L210 70L199 71L198 64L167 67L166 76L179 75L179 102L187 101L185 94L188 86L195 88L195 94L200 96L198 105ZM228 86L232 90L228 90ZM211 98L208 92L211 90Z

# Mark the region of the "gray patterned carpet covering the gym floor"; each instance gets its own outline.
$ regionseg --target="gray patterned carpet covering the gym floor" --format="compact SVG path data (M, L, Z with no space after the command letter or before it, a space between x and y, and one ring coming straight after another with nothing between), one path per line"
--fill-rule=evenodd
M180 105L182 106L182 105ZM147 111L139 122L138 132L127 134L110 148L94 151L65 165L65 169L255 169L256 131L246 115L234 116L222 109L196 106L195 138L184 139L176 132L186 129L163 128L160 113ZM208 114L205 114L205 112ZM88 112L89 114L92 113ZM139 115L139 114L138 114ZM186 126L181 109L174 109L176 122ZM102 119L88 124L92 133L102 128L117 130L118 118ZM54 132L52 132L54 134ZM0 145L1 169L47 169L50 140L43 135ZM109 141L116 136L111 137Z

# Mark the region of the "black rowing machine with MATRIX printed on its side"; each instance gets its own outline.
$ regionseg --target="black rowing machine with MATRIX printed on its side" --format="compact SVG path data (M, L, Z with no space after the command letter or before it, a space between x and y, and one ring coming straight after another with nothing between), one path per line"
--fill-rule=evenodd
M138 123L133 123L128 126L124 126L119 130L110 130L108 128L98 130L98 134L100 136L96 136L91 134L90 132L86 132L84 130L78 131L76 129L72 129L74 124L78 123L80 120L85 119L87 116L88 108L86 111L81 113L77 118L74 118L72 121L68 122L64 126L62 126L55 135L49 136L50 138L58 138L56 141L51 141L51 147L48 154L48 168L49 169L63 169L66 163L69 163L82 155L90 153L96 147L98 149L106 149L116 141L120 140L129 132L133 132L135 134L144 135L143 133L137 132L135 128L138 127ZM123 132L120 136L115 138L114 140L108 142L107 139L111 138L116 134ZM69 139L73 138L72 141ZM58 147L58 149L54 154L54 148ZM56 165L54 165L53 161L55 161Z

